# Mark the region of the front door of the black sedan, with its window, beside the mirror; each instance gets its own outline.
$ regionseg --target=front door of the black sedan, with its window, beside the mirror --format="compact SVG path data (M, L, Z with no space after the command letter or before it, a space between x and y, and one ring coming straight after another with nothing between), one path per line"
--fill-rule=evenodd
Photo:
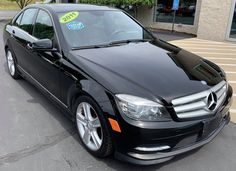
M33 27L33 37L50 39L55 49L59 51L58 39L49 13L39 10ZM60 99L60 53L52 51L31 50L29 59L32 66L30 74L40 86L57 100Z

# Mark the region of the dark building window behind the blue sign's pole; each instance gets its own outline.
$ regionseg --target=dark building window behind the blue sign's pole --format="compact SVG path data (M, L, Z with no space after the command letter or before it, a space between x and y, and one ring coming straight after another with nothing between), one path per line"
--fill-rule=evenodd
M193 25L197 0L180 0L179 9L176 11L175 23ZM174 11L173 0L157 0L155 8L155 21L172 23Z

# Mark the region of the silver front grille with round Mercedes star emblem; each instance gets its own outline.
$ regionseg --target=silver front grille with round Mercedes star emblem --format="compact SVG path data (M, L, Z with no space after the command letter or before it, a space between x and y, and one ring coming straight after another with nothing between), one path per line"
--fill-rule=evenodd
M222 81L209 90L177 98L171 102L177 117L180 119L210 116L214 115L216 110L223 103L226 97L226 91L227 82ZM210 103L210 100L212 98L209 98L211 94L216 96L215 100L212 100L213 102L216 101L214 109L211 108L212 103Z

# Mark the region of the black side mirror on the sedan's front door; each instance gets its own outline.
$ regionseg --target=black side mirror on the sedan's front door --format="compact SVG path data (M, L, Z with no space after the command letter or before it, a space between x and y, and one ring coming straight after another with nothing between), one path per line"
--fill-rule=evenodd
M53 48L52 41L50 39L40 39L36 40L33 43L27 44L27 47L32 50L41 50L41 51L55 51Z

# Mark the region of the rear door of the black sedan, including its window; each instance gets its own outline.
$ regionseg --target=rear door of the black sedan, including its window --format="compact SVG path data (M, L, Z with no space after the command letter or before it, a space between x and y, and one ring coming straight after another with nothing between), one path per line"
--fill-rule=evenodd
M31 35L36 13L36 8L26 9L18 16L10 30L12 37L10 43L17 58L17 64L28 73L32 69L30 63L32 53L28 51L27 44L36 40Z

